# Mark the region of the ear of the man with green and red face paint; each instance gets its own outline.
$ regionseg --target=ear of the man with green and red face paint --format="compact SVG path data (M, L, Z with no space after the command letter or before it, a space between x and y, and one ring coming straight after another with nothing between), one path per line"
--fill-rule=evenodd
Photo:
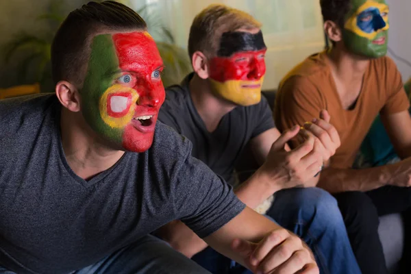
M60 103L72 112L80 111L80 96L77 88L67 81L60 81L55 85L55 95Z

